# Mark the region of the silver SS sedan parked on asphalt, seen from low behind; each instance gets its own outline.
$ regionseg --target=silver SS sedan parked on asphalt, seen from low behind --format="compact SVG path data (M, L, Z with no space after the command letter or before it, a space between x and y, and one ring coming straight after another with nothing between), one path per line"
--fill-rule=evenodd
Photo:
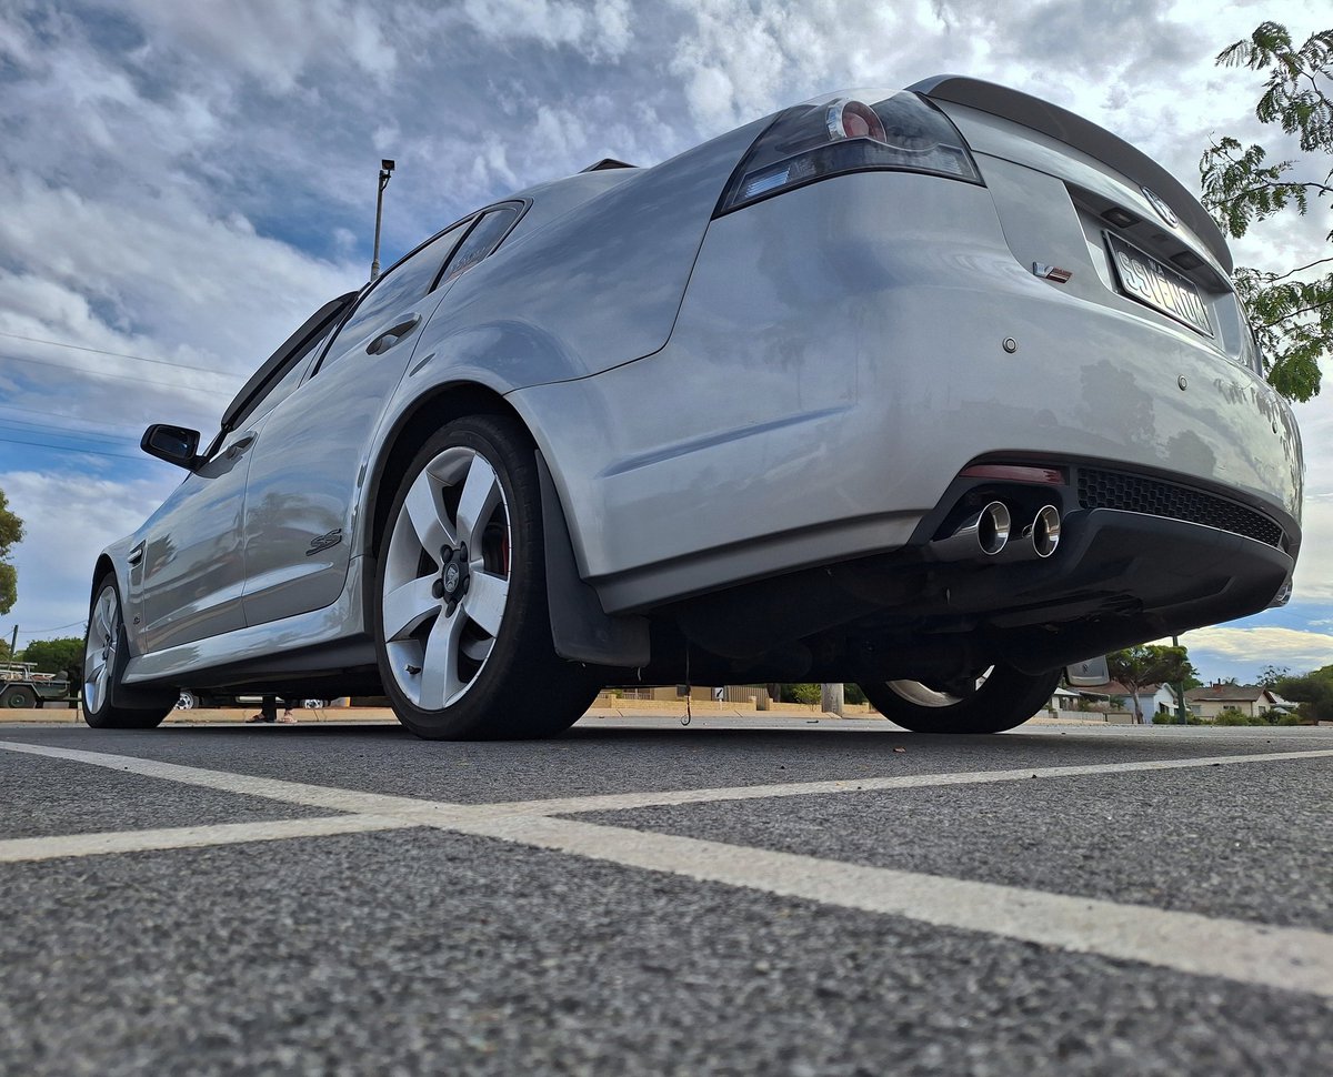
M317 311L93 570L84 713L385 693L553 734L607 684L856 681L996 732L1285 601L1302 463L1200 204L1044 101L829 95L452 224Z

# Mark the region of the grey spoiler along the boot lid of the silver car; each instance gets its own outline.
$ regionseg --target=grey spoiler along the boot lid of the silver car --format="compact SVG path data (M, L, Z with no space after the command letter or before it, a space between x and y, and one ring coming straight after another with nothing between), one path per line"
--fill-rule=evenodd
M1030 127L1105 161L1134 183L1150 187L1208 247L1222 269L1232 272L1232 252L1226 249L1226 239L1198 199L1152 157L1105 128L1040 97L961 75L933 75L908 89L937 101L966 105Z

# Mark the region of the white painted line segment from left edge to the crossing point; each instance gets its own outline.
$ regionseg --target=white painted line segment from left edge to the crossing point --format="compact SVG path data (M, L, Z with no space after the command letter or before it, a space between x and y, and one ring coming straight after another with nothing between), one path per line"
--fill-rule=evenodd
M413 826L383 816L321 816L271 822L220 822L209 826L167 826L153 830L103 830L59 837L19 837L0 841L0 864L63 860L108 853L143 853L153 849L203 849L245 841L281 841L289 837L328 837L371 830L401 830Z

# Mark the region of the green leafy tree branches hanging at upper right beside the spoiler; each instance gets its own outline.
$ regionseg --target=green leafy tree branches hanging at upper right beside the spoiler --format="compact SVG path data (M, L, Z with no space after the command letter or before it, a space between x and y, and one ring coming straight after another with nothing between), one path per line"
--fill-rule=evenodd
M1269 72L1254 115L1297 136L1301 152L1310 155L1302 164L1314 176L1293 172L1292 160L1269 164L1258 144L1241 147L1230 136L1214 141L1198 163L1202 201L1222 231L1240 239L1252 224L1288 209L1305 216L1310 193L1333 193L1333 168L1325 172L1333 156L1333 29L1296 47L1286 27L1262 23L1224 48L1217 63ZM1333 244L1333 231L1325 240ZM1242 267L1233 275L1264 355L1264 373L1289 400L1318 395L1318 361L1333 353L1333 272L1314 272L1333 264L1333 253L1322 248L1310 255L1285 272Z

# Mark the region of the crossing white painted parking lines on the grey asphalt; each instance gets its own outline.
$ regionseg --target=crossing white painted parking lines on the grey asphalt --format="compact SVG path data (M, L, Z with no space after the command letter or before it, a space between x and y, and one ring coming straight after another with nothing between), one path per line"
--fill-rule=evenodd
M111 756L44 745L0 742L0 748L35 756L83 761L120 772L203 785L249 796L268 797L288 804L319 805L351 814L333 820L293 820L293 824L343 822L348 828L385 829L399 826L433 826L453 833L527 845L572 856L600 860L627 868L664 872L697 881L741 886L782 897L804 898L869 913L901 916L940 928L978 932L1054 946L1074 953L1100 954L1121 961L1136 961L1174 969L1196 976L1217 976L1254 986L1297 990L1333 998L1333 934L1302 929L1249 924L1237 920L1178 913L1144 905L1128 905L1098 898L973 882L917 872L870 868L836 860L725 845L713 841L605 826L577 820L556 818L552 808L563 813L601 810L611 800L600 796L532 801L531 810L521 802L500 805L463 805L361 793L304 782L256 778L221 770L205 770L179 764L156 762L129 756ZM961 785L969 777L977 781L1016 781L1018 776L1038 777L1108 774L1126 770L1181 769L1241 762L1274 762L1309 757L1328 757L1330 750L1274 752L1254 756L1222 756L1200 760L1169 760L1156 765L1140 762L1092 766L1040 768L1024 772L969 772L968 774L921 774L905 778L860 780L849 782L805 782L798 786L749 786L749 789L800 789L802 794L845 793L857 789L922 788L925 785ZM910 781L909 785L882 782ZM688 790L693 800L669 802L702 802L701 793L736 790ZM772 792L766 794L772 796ZM793 792L780 793L796 794ZM649 796L649 794L643 794ZM659 794L660 796L660 794ZM656 801L663 802L663 801ZM369 818L367 818L369 816ZM272 833L272 822L231 824L228 836L245 840L249 829L256 834ZM177 828L203 832L212 828ZM135 832L127 832L129 841ZM172 830L156 833L164 840L176 837ZM79 836L80 840L95 836ZM256 837L256 840L264 840ZM52 838L23 838L24 842ZM3 849L0 842L0 849ZM168 845L159 848L180 848Z

